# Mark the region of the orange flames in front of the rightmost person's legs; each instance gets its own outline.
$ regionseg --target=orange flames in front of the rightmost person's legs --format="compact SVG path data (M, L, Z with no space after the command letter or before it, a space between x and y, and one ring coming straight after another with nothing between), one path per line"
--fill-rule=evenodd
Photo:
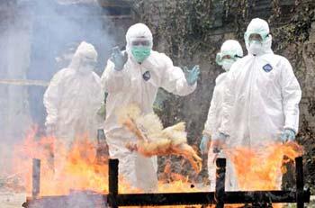
M227 150L238 177L238 189L244 191L279 190L284 163L302 155L294 142L270 143L264 149L236 148Z

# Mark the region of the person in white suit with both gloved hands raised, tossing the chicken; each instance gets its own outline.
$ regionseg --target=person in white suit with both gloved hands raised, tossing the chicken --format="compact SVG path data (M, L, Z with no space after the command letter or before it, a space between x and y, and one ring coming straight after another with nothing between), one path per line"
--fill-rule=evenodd
M184 73L164 53L152 50L152 33L143 23L130 26L126 41L126 51L113 51L102 76L108 93L104 130L111 158L119 158L120 174L133 187L152 192L157 189L157 157L145 158L125 148L126 141L136 138L118 123L116 114L129 104L138 104L142 113L152 113L159 87L189 95L200 72L195 66Z

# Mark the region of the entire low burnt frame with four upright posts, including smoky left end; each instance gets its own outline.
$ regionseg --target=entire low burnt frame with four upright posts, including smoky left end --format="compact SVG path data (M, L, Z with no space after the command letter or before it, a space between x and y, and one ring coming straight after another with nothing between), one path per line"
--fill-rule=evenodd
M311 193L304 189L302 157L295 158L296 189L294 191L239 191L225 192L226 159L216 161L215 192L196 193L158 193L158 194L118 194L118 159L109 160L109 194L94 192L71 192L60 196L39 196L40 160L33 159L32 196L23 203L25 208L69 208L69 207L121 207L121 206L157 206L157 205L193 205L215 204L217 208L224 204L247 203L244 207L272 207L273 203L296 203L298 208L310 202Z

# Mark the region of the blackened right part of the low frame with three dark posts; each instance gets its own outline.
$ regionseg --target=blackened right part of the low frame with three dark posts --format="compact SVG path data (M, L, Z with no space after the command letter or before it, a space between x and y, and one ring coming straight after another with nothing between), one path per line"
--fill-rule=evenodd
M215 192L197 193L166 193L166 194L117 194L118 190L118 160L109 162L109 194L108 203L112 208L131 205L193 205L216 204L217 208L224 204L233 203L297 203L302 208L304 203L310 202L310 190L303 190L302 157L296 158L296 191L253 191L253 192L225 192L226 159L218 158L216 161L216 188ZM299 185L298 185L299 184ZM113 190L113 192L111 192Z

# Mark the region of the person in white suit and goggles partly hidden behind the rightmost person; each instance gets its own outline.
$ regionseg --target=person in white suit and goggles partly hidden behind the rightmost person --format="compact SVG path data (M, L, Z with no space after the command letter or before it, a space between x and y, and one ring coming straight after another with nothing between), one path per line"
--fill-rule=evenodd
M210 179L210 188L211 191L214 191L215 188L215 157L217 154L213 153L212 149L209 149L211 135L218 133L220 127L220 122L222 118L222 103L224 90L226 88L226 77L229 71L229 68L232 64L238 59L243 57L243 50L238 41L228 40L224 41L220 47L220 53L217 54L216 62L220 65L225 72L220 74L219 77L215 80L215 87L212 94L211 105L208 112L207 121L204 124L204 130L202 132L202 141L200 143L200 149L202 154L208 153L208 176ZM208 150L209 149L209 150ZM229 182L229 171L227 170L226 177L226 190L232 186Z

